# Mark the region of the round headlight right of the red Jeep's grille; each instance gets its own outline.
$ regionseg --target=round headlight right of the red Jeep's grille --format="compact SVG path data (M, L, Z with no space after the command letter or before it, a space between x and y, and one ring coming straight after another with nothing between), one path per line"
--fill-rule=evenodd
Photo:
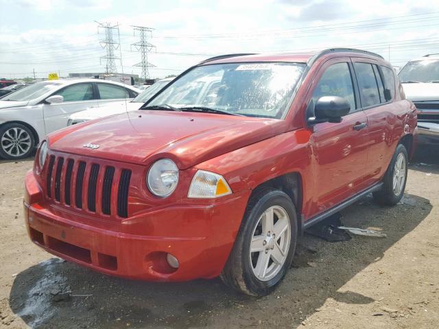
M157 160L148 171L147 186L158 197L167 197L177 187L178 167L169 159Z

